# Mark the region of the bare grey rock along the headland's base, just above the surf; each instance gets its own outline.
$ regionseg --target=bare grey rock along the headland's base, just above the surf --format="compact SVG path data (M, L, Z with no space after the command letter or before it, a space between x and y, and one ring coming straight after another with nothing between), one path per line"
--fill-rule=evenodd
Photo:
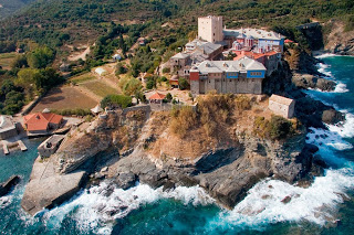
M156 160L136 149L114 168L117 179L122 172L129 173L153 188L199 184L221 204L232 207L264 178L289 183L311 180L312 174L321 172L321 167L312 161L313 149L305 143L304 135L287 142L239 135L237 147L209 151L194 162Z

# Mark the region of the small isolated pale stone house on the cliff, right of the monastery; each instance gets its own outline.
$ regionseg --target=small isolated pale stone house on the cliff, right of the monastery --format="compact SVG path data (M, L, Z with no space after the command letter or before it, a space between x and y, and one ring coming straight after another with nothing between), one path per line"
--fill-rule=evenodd
M295 111L295 100L283 96L272 95L269 98L269 109L275 115L292 118Z

